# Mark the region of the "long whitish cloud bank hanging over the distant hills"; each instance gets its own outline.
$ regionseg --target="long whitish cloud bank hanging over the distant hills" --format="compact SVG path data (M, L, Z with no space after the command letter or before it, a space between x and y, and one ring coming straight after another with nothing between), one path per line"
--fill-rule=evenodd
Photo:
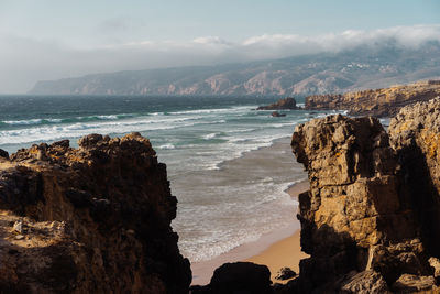
M109 30L125 30L124 22L109 22ZM440 42L440 25L397 26L375 31L349 30L318 36L262 34L241 42L200 36L187 42L173 40L125 42L78 50L54 41L0 34L0 92L25 92L37 80L92 73L211 65L278 58L319 52L338 52L360 45L393 42L417 47Z

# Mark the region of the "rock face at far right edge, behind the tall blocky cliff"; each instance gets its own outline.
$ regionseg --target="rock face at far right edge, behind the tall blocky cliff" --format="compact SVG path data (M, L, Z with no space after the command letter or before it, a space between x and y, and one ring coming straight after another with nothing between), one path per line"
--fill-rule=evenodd
M411 194L424 243L440 257L440 98L405 107L389 123L402 177Z

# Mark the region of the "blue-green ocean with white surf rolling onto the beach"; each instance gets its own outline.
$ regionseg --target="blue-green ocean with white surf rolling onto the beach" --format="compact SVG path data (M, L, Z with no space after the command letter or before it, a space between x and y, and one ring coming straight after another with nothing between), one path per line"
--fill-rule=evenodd
M297 205L285 189L302 181L288 145L306 110L255 111L257 97L0 96L0 149L88 133L147 137L178 198L173 228L190 261L212 259L280 229ZM270 148L271 146L271 148Z

